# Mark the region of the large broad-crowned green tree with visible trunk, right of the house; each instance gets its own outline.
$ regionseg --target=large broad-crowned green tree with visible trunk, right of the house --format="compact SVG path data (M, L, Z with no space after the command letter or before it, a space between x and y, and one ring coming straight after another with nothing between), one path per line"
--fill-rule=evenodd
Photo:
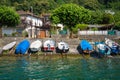
M73 27L79 23L88 23L90 18L90 11L76 4L64 4L56 8L51 15L53 23L62 23L68 26L71 31L71 37Z

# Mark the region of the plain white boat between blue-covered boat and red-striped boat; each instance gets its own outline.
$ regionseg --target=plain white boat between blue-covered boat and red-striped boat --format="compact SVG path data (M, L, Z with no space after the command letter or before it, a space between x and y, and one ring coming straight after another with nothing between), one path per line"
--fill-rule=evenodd
M42 42L40 40L33 41L30 45L30 50L33 52L39 51L42 47Z

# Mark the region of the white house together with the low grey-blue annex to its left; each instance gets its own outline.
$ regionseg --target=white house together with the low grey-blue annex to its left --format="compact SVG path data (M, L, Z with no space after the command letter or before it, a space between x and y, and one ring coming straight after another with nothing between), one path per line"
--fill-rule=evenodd
M45 38L50 37L50 20L49 14L43 14L40 17L30 12L18 11L20 15L20 24L16 27L3 27L2 35L22 36L22 32L26 31L29 38Z

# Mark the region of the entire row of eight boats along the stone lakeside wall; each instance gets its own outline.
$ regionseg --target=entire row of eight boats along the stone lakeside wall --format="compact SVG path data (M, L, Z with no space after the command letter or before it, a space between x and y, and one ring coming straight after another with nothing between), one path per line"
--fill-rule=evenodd
M93 45L94 44L94 45ZM70 49L69 45L64 42L60 41L56 44L56 42L52 39L48 39L44 42L41 40L35 40L33 42L29 42L29 40L25 39L16 46L16 41L13 41L7 45L5 45L2 50L11 50L13 47L15 47L15 54L27 54L27 53L35 53L38 51L43 52L60 52L60 53L67 53ZM79 44L82 53L91 54L93 51L97 51L101 55L111 55L111 54L118 54L120 52L119 50L119 44L105 38L104 42L92 42L90 43L87 40L81 40ZM96 49L94 48L96 47Z

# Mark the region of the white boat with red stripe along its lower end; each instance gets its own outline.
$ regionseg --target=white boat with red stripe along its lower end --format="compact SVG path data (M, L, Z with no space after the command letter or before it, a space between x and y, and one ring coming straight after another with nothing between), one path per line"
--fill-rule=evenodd
M53 40L46 40L43 44L44 51L54 51L55 49L55 41Z

